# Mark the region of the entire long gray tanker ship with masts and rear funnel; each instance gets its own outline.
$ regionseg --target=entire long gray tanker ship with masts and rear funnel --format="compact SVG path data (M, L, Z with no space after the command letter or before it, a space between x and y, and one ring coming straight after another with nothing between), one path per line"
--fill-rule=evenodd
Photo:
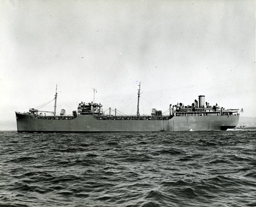
M140 114L140 84L138 86L137 113L133 116L117 114L117 109L114 111L111 108L109 113L105 114L102 105L94 103L95 101L81 101L77 110L66 116L65 109L56 114L56 85L54 111L40 111L35 108L30 108L28 112L15 111L17 132L217 131L238 125L239 109L225 109L217 103L211 106L205 102L205 96L202 95L191 105L169 104L168 114L156 108L152 108L151 114ZM93 89L95 96L96 89ZM51 114L47 115L49 112Z

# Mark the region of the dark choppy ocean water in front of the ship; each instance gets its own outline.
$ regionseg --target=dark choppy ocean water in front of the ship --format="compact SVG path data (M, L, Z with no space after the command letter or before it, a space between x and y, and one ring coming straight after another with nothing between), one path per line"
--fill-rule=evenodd
M0 206L256 206L256 131L0 132Z

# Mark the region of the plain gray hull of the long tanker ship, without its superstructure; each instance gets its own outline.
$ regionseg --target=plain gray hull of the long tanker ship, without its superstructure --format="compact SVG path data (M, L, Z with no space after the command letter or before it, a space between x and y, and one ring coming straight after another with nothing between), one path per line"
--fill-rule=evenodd
M97 120L79 115L71 120L35 119L16 113L18 132L212 131L234 128L239 116L180 116L168 120Z

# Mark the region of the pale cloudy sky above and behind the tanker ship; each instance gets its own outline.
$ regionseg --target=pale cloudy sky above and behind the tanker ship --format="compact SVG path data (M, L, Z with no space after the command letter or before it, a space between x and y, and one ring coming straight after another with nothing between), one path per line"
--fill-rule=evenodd
M54 98L57 113L210 105L256 117L255 1L1 1L0 130ZM53 111L51 102L41 110Z

